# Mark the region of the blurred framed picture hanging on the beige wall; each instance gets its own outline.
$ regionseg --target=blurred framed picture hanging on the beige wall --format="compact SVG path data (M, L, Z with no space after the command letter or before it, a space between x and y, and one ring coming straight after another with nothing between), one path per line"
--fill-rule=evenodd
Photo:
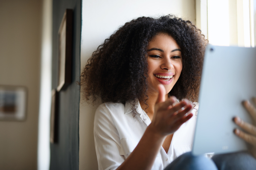
M0 85L0 120L24 121L27 96L26 87Z

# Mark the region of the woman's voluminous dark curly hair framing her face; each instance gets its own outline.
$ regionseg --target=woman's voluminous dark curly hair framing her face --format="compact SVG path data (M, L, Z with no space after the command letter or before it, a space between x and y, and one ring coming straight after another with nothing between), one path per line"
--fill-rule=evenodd
M88 59L80 85L83 99L121 102L148 99L148 42L159 33L169 34L181 48L183 68L169 92L197 102L204 51L208 40L191 21L174 15L139 17L125 23L104 41Z

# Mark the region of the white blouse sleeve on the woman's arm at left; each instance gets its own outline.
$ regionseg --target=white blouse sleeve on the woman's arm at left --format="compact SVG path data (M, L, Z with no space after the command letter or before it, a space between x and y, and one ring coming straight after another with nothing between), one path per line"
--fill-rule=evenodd
M125 161L120 155L119 133L105 104L95 113L94 142L99 170L116 170Z

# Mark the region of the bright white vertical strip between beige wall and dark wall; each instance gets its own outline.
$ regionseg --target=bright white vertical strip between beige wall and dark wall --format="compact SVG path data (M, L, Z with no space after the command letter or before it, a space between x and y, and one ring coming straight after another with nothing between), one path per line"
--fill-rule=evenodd
M43 1L42 25L40 106L38 120L38 170L49 170L52 90L52 0Z

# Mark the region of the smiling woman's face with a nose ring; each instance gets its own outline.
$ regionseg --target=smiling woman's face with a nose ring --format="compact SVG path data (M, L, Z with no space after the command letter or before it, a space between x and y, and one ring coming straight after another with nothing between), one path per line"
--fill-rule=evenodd
M148 92L157 92L163 84L168 94L180 77L182 58L180 47L168 34L157 34L148 43Z

